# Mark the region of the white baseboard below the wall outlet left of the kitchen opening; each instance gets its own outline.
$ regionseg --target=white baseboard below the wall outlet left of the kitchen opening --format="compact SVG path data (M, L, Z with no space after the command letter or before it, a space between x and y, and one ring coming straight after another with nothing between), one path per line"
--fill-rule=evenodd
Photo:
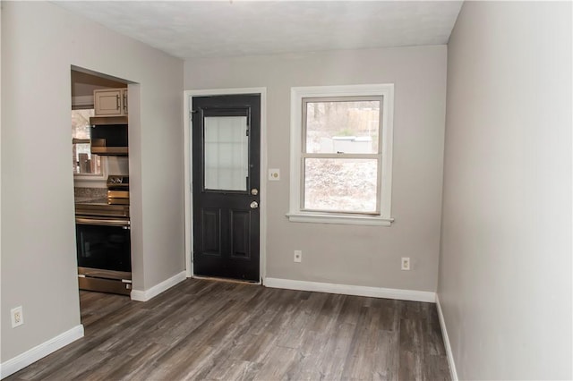
M72 329L58 334L56 337L41 343L29 351L25 351L13 359L0 364L0 378L8 377L18 370L28 367L30 364L46 357L69 343L73 343L83 337L83 326L74 326Z

